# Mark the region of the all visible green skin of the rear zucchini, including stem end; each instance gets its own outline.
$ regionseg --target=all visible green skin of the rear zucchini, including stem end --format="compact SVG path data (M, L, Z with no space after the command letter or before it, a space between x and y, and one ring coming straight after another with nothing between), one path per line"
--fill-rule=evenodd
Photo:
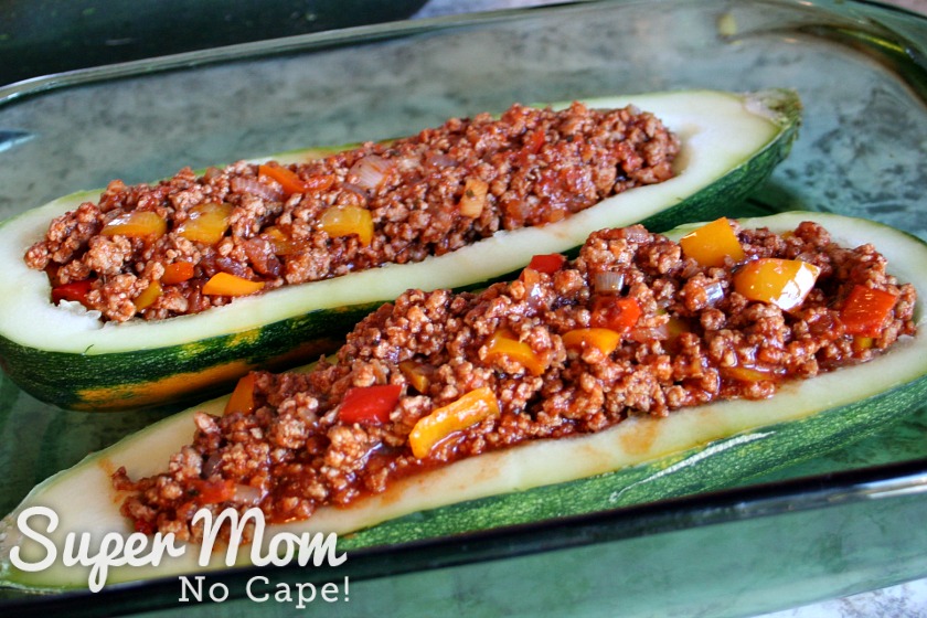
M752 158L707 187L688 196L680 195L676 202L660 212L642 219L635 217L633 213L615 214L608 225L642 222L659 232L681 222L714 219L729 212L732 203L739 202L768 179L798 135L801 106L793 93L764 93L761 102L766 105L766 117L779 130ZM326 150L306 152L316 157L324 154ZM294 159L298 154L287 157ZM573 243L565 242L557 251L569 253L572 248ZM523 264L512 263L511 266L509 273L491 278L475 275L457 289L481 287L508 278ZM263 298L270 303L273 295ZM316 360L333 351L340 338L361 318L392 300L392 296L384 296L329 309L307 308L305 313L235 332L194 338L180 344L115 352L100 352L93 345L79 352L40 349L20 344L14 332L0 330L0 365L25 392L65 409L172 406L225 391L254 367L281 369Z

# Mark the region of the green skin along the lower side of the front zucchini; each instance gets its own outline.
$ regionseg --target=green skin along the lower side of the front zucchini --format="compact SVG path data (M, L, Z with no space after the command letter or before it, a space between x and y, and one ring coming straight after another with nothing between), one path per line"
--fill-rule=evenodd
M846 447L927 399L927 376L813 416L712 441L632 468L414 513L345 535L345 550L408 543L491 528L717 491Z

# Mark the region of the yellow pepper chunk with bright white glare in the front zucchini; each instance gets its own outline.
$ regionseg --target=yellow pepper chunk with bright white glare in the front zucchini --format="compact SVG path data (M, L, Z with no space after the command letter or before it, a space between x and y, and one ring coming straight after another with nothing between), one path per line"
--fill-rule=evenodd
M791 311L805 302L820 273L819 267L800 259L765 257L737 270L734 289L749 300Z

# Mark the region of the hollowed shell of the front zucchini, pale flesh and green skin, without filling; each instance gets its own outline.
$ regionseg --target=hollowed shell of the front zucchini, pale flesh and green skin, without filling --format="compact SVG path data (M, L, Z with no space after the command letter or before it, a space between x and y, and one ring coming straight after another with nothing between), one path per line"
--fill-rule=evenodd
M915 285L921 294L916 337L898 341L869 363L787 383L768 399L713 403L660 419L636 417L599 434L528 443L465 459L403 479L350 508L322 508L308 521L267 526L266 535L335 532L341 547L351 550L601 511L729 486L884 428L927 395L927 244L882 224L832 214L784 213L743 224L782 232L806 220L824 225L841 244L873 243L888 258L889 270ZM676 228L671 236L691 228ZM60 562L38 573L13 567L9 555L14 546L35 556L28 558L31 562L44 556L44 550L22 537L18 513L35 505L53 509L61 524L47 536L57 547L70 531L97 537L130 532L130 523L118 513L110 473L119 466L131 478L163 469L170 454L189 443L193 412L222 414L224 401L149 426L36 487L0 523L0 584L46 590L86 586L85 568L65 568ZM32 525L44 530L45 524ZM158 568L116 567L108 580L201 571L196 557L191 547L182 560L162 561ZM247 563L248 556L239 558Z

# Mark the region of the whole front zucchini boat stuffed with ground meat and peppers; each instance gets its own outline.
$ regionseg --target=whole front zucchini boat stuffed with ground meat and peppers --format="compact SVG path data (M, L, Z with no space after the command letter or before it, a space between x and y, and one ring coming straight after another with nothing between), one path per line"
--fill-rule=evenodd
M331 362L254 372L230 397L40 484L3 521L0 580L86 586L87 569L60 560L11 562L38 564L72 532L191 543L157 567L115 566L109 583L221 567L224 551L198 565L198 510L257 508L265 542L334 532L350 550L795 464L923 403L925 259L927 245L897 230L797 212L667 236L603 231L575 260L539 256L478 295L409 291ZM26 518L26 537L19 524L34 508L60 523Z

